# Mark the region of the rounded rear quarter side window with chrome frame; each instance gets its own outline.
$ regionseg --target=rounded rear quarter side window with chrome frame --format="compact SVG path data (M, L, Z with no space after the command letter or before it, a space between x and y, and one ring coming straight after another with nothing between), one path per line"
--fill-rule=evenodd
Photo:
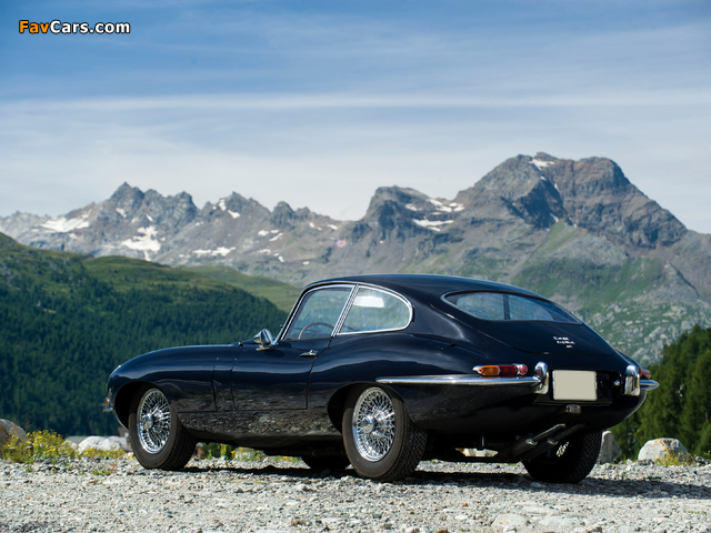
M339 333L400 330L410 322L410 308L400 298L361 286Z

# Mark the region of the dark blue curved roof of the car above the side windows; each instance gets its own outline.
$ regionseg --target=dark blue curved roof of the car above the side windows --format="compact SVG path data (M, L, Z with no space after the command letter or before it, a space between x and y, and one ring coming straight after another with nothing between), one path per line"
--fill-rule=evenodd
M438 274L361 274L331 278L311 283L304 290L329 283L365 283L390 289L402 295L427 298L429 294L445 294L458 291L494 291L542 298L539 294L495 281Z

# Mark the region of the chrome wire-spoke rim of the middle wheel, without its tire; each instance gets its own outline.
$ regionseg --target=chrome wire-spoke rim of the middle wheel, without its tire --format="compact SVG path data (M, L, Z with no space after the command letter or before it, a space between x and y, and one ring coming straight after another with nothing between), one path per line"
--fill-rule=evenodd
M353 440L367 461L380 461L395 438L395 410L390 396L377 386L363 391L353 410Z

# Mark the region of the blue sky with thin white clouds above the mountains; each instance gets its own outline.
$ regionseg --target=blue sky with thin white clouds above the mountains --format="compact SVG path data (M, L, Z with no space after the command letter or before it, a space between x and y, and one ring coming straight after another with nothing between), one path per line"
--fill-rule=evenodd
M130 33L20 33L20 21ZM711 233L711 2L0 2L0 217L123 182L361 218L508 158L605 157Z

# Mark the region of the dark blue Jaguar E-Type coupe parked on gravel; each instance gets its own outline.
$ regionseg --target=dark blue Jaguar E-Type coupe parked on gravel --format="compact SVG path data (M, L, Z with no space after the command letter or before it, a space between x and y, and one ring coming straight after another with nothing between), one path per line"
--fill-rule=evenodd
M276 339L262 330L128 361L108 401L147 469L182 469L204 441L380 481L438 459L521 461L537 480L577 483L650 378L524 289L353 275L304 288Z

